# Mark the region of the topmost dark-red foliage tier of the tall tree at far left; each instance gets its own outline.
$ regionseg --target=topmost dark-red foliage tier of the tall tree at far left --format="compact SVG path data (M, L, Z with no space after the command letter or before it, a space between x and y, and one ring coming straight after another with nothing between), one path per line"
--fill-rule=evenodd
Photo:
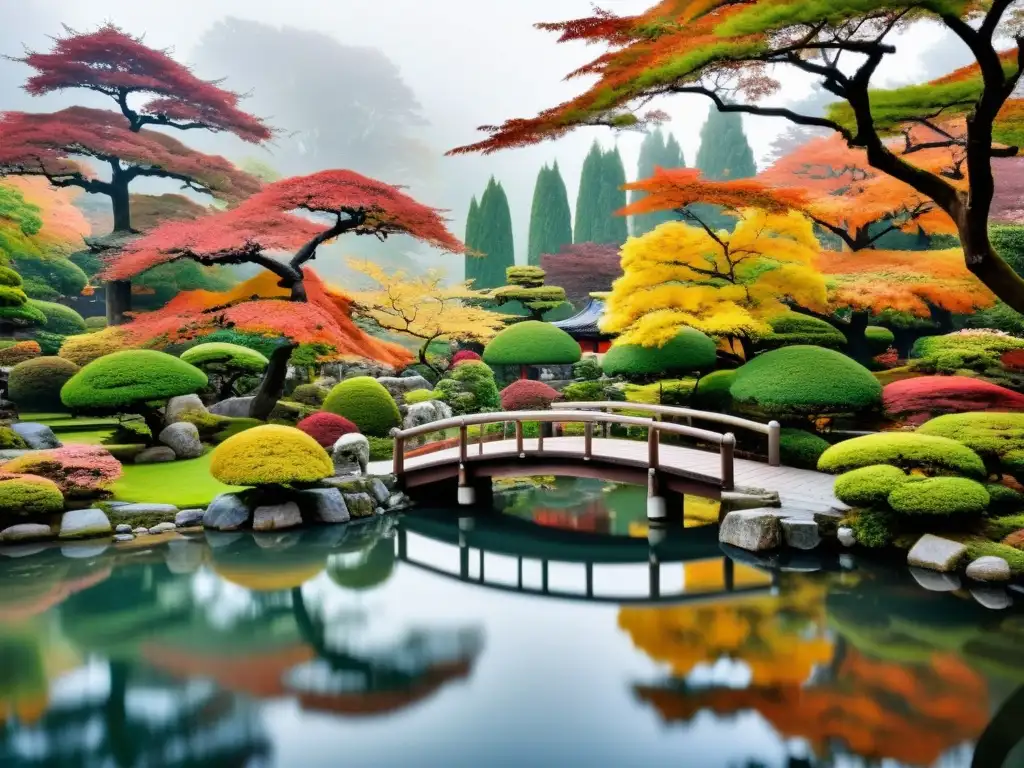
M134 115L140 124L181 121L178 127L228 131L253 143L270 138L270 129L261 120L239 109L238 93L199 79L167 51L144 45L141 38L111 24L95 32L68 29L67 33L54 39L50 53L30 51L18 59L37 72L25 85L34 96L66 88L88 88L114 98L147 93L156 98Z

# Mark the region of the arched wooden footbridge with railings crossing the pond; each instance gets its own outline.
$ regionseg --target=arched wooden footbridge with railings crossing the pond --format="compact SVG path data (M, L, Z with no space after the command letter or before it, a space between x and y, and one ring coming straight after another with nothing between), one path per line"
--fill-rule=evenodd
M732 431L706 429L694 422L758 435L766 442L767 463L737 458ZM540 436L525 437L527 423L541 425ZM514 436L507 437L510 424ZM583 434L565 435L568 424L582 424ZM502 425L502 431L488 435L486 427L492 425ZM646 440L615 437L615 427L645 430ZM781 466L779 432L777 422L762 424L692 409L571 402L552 411L473 414L393 430L391 471L407 493L431 501L458 487L463 505L489 506L496 477L556 475L647 485L648 516L653 519L681 516L684 495L722 499L723 494L754 488L778 493L790 512L841 506L833 495L833 477ZM441 439L427 442L429 435ZM666 436L686 444L670 444Z

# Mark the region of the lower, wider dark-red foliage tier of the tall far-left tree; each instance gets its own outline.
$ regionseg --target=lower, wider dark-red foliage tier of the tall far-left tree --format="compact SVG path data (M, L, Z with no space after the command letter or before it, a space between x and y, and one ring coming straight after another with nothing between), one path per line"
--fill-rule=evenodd
M0 170L43 174L58 181L88 177L70 156L120 159L129 177L173 178L237 202L260 188L260 181L227 160L190 150L158 131L133 131L119 113L70 106L52 114L8 112L0 117ZM91 183L104 186L93 179ZM102 188L94 191L103 191Z

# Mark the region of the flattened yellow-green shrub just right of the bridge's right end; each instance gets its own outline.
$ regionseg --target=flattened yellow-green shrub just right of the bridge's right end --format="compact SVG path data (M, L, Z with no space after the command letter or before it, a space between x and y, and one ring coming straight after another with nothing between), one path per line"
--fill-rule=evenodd
M818 469L839 474L874 464L982 478L987 474L981 457L967 445L920 432L880 432L844 440L821 455Z

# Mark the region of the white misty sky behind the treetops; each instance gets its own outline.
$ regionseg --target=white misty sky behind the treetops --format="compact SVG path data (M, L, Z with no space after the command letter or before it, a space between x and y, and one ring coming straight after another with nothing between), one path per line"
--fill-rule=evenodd
M649 2L603 0L599 5L632 13ZM520 262L542 164L558 160L570 203L584 156L595 139L605 146L617 144L627 175L632 179L636 173L641 136L604 128L581 129L557 141L488 157L443 157L446 150L475 140L478 125L531 116L585 87L585 82L562 78L599 49L557 45L553 35L532 25L588 15L590 0L0 0L0 53L17 55L23 44L45 49L47 36L58 34L62 24L89 30L114 22L144 35L150 45L172 48L201 77L223 78L227 87L251 93L247 109L282 131L266 150L190 132L186 140L197 148L237 162L257 158L285 174L344 166L404 184L421 201L447 209L460 236L470 197L479 195L494 175L509 196ZM290 28L291 46L283 43L267 53L260 34L285 27ZM303 42L317 39L315 45ZM319 50L338 55L317 67L313 51ZM967 55L958 41L938 28L918 28L901 41L900 52L887 58L878 85L933 77L963 65ZM373 84L366 83L367 73ZM28 74L24 65L0 60L0 109L106 105L81 91L30 97L19 90ZM379 78L386 88L378 87ZM826 101L802 76L786 76L783 83L773 103L813 110ZM670 114L667 128L692 162L707 99L677 96L652 106ZM321 125L309 124L316 119ZM745 118L749 140L762 164L787 127L775 119ZM421 265L446 264L455 278L462 273L459 258L416 253L413 259Z

